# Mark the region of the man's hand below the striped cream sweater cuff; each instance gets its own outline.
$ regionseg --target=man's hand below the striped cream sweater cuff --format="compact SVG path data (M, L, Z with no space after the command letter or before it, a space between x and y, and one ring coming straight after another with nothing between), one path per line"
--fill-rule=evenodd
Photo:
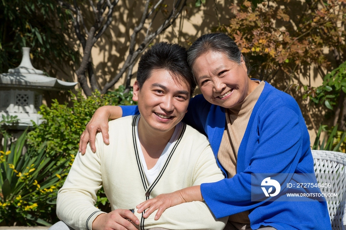
M137 230L132 223L139 225L139 220L130 210L117 209L97 216L92 230Z

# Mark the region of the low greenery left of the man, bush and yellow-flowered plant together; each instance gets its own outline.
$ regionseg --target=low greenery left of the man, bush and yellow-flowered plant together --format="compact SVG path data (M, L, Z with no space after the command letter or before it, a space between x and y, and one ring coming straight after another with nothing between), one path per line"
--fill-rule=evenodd
M101 95L84 98L78 92L71 105L54 100L41 106L43 123L24 132L0 152L0 226L46 225L57 221L56 195L66 179L78 151L79 138L94 111L103 105L132 105L132 91L124 86ZM4 134L7 135L7 134ZM8 140L9 136L5 136ZM28 151L23 146L27 140ZM99 192L99 208L107 210L104 193Z

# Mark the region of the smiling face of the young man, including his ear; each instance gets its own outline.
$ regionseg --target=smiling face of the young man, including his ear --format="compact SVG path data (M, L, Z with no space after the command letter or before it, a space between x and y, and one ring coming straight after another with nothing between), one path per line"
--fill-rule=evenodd
M173 134L174 127L187 111L190 87L180 77L176 80L164 69L154 69L139 89L133 85L134 101L138 101L140 126L146 132ZM172 134L171 134L172 133Z

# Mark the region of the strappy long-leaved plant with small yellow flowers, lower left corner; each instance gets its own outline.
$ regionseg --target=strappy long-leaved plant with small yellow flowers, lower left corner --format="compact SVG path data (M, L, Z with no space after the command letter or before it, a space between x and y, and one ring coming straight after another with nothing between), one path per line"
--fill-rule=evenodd
M61 176L67 174L65 162L58 163L45 154L45 143L28 150L23 147L27 131L10 144L11 137L4 135L3 151L0 151L0 225L49 225L55 222L53 215L57 188ZM9 149L8 151L6 151Z

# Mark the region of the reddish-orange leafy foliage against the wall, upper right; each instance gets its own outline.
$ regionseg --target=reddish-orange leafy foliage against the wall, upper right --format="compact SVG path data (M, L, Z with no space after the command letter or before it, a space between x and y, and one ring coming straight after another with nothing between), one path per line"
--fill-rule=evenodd
M293 83L303 86L301 77L316 77L310 76L312 64L324 77L331 64L345 61L345 6L346 0L266 0L257 6L245 0L230 7L229 24L218 30L249 58L251 77L288 90Z

